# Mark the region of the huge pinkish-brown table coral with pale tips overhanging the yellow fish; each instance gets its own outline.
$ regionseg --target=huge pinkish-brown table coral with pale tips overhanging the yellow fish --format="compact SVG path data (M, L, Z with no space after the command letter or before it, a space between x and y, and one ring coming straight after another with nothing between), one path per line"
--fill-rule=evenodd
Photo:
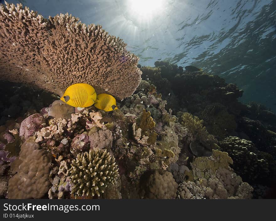
M45 19L22 4L1 4L0 29L1 79L56 93L88 83L120 99L141 81L138 57L122 39L68 13Z

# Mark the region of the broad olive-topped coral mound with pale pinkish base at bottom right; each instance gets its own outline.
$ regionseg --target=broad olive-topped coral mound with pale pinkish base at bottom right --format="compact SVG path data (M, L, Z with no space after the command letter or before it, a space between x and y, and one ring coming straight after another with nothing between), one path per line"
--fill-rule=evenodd
M253 188L242 182L240 176L229 167L233 161L226 152L213 150L210 157L197 157L191 163L187 181L178 186L178 198L182 199L248 199Z

